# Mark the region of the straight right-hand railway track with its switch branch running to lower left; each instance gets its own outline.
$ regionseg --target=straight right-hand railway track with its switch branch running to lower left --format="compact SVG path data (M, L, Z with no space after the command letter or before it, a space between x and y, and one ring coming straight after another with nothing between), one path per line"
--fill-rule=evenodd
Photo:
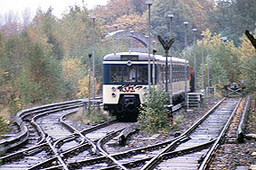
M239 100L236 99L221 101L210 112L207 112L200 121L197 121L193 127L176 139L122 153L111 153L108 151L108 147L105 147L105 151L124 166L122 169L179 169L182 166L185 169L196 169L204 161L204 156L206 156L209 148L216 146L216 142L219 143L220 139L222 139L223 133L228 126L228 123L225 122L231 119L238 103ZM180 160L169 159L170 157L175 159L178 157ZM175 167L173 162L167 162L170 160L175 163L179 162L180 165ZM187 160L189 160L189 163ZM120 168L120 166L111 164L107 166L108 161L107 157L95 157L71 163L69 166L71 169ZM187 165L184 165L184 162L187 162ZM107 167L103 167L102 164L105 164Z

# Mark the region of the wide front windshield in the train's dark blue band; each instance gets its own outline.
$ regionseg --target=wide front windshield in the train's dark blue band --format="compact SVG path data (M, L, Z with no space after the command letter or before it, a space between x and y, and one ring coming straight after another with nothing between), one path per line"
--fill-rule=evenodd
M109 82L147 83L147 65L113 65L109 67Z

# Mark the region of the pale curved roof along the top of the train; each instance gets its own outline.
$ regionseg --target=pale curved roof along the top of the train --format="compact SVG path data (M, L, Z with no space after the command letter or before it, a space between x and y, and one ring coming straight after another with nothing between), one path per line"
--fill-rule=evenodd
M150 60L153 60L154 55L150 54ZM158 62L166 62L166 57L155 55L155 59ZM112 53L108 54L103 58L103 61L124 61L124 60L131 60L131 61L147 61L148 60L148 53L141 53L141 52L119 52L119 53ZM168 58L170 60L170 58ZM182 58L172 58L174 63L185 63L185 59ZM187 61L186 61L187 62Z

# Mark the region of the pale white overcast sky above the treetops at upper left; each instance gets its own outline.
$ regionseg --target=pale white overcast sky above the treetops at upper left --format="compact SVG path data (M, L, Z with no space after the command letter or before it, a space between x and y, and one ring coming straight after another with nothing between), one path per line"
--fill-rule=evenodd
M0 0L0 15L4 16L9 11L21 15L26 8L29 8L33 15L38 7L46 11L52 6L52 13L61 17L70 5L78 4L82 6L84 4L87 8L92 9L97 4L107 4L107 2L108 0Z

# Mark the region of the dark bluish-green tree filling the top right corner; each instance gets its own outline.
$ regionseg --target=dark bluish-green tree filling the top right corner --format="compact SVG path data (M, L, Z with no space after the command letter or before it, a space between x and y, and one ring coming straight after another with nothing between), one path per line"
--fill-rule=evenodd
M214 30L240 44L243 31L255 28L255 0L216 1L217 7L212 15Z

